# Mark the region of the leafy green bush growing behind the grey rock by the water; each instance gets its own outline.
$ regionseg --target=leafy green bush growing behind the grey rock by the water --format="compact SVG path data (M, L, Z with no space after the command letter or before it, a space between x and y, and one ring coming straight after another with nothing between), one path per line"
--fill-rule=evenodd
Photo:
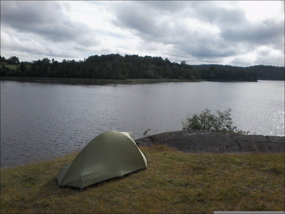
M239 134L248 134L238 130L233 126L231 119L231 108L221 112L217 110L218 116L211 114L211 110L205 109L200 115L194 114L192 117L188 114L186 121L182 121L183 130L206 130L209 132L237 132Z

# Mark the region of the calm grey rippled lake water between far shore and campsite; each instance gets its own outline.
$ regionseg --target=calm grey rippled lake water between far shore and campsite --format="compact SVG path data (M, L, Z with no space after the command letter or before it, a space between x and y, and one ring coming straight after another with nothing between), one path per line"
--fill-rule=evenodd
M1 81L1 168L81 150L108 130L182 130L187 114L231 108L250 134L284 136L284 81L67 85Z

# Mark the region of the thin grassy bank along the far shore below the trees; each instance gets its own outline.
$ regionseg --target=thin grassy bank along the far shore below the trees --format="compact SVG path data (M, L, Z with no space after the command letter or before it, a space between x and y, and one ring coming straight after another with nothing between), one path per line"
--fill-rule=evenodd
M101 80L101 79L82 79L82 78L50 78L50 77L14 77L1 76L0 80L22 81L22 82L60 82L66 84L140 84L158 82L199 82L204 80L178 80L178 79L126 79L126 80Z

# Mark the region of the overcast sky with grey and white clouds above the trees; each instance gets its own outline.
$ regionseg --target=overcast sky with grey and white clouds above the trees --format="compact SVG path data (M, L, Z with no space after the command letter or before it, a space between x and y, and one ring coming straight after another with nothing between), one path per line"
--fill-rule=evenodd
M1 0L1 56L284 66L284 2Z

